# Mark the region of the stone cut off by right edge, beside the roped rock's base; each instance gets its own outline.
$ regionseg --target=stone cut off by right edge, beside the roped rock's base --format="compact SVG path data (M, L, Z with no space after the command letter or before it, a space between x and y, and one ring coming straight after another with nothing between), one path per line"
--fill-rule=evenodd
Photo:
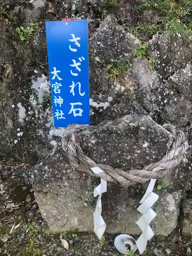
M182 204L183 222L182 235L184 238L190 239L192 237L192 200L186 199Z

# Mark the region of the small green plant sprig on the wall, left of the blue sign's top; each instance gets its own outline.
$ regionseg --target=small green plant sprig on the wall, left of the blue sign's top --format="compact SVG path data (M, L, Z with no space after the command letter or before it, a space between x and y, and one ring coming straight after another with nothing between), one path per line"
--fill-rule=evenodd
M17 27L15 31L18 33L21 41L28 43L29 39L35 34L38 28L38 23L30 23L29 27Z

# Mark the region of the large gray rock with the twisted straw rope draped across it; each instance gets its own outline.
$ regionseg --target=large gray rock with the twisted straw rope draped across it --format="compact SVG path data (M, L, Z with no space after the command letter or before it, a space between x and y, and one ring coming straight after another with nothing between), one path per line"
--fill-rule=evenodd
M76 134L86 154L96 163L110 164L128 170L163 157L172 138L162 126L150 117L137 114L113 122L90 127ZM66 157L59 152L42 161L33 172L35 197L42 216L55 231L93 231L95 180L78 169L72 170ZM146 184L147 185L147 184ZM102 197L102 216L106 232L140 233L135 224L146 185L125 189L108 183L108 192ZM152 223L156 234L167 236L177 225L180 195L162 191L154 205L157 218ZM162 221L163 216L163 221Z

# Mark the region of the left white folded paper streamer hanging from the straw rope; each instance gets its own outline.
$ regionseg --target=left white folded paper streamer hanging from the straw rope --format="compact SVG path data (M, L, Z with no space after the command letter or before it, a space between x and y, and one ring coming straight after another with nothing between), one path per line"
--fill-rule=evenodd
M93 167L91 170L94 172L94 174L103 173L103 170L99 167ZM106 181L101 179L101 183L94 189L94 197L98 197L97 204L95 207L95 211L93 212L93 218L94 218L94 232L96 233L99 240L102 239L103 233L106 228L106 224L101 216L102 212L102 205L101 205L101 195L102 193L106 192L107 190L107 184Z

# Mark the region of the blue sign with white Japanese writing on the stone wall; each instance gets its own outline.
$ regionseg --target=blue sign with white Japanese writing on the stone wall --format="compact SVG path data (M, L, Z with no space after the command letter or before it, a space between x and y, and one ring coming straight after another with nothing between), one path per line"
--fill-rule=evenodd
M46 22L54 125L90 124L87 20Z

